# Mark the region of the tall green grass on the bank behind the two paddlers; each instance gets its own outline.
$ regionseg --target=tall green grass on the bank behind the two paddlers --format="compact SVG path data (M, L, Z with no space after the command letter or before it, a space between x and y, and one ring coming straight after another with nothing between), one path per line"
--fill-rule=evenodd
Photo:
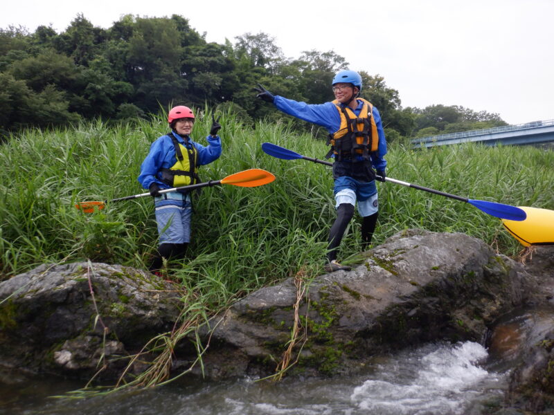
M195 125L204 143L211 113ZM256 188L204 188L195 201L188 258L171 264L188 288L222 304L300 268L318 272L334 206L329 167L279 160L263 153L274 142L323 158L325 142L299 136L285 124L246 127L222 114L222 157L201 167L202 181L258 167L276 181ZM1 145L0 280L43 263L91 259L145 268L157 245L150 197L113 203L96 214L78 201L143 193L136 176L150 143L168 131L163 117L114 127L101 121L75 128L29 130ZM413 151L389 147L387 174L444 192L507 203L554 208L554 152L533 147L463 145ZM521 246L499 219L467 203L392 183L378 183L379 244L406 228L464 232L506 255ZM339 258L359 252L359 217L350 225Z

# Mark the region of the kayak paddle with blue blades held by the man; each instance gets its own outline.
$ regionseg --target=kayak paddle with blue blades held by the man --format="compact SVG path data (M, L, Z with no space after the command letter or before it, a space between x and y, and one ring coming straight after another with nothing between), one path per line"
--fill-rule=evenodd
M312 161L314 163L320 163L323 165L332 166L333 163L328 161L319 160L318 158L306 157L302 154L298 154L292 150L279 147L278 145L271 144L271 142L264 142L262 144L262 150L265 151L269 156L274 156L276 158L282 158L283 160L295 160L297 158L302 158L303 160ZM377 176L381 177L381 176ZM414 185L413 183L407 183L404 181L396 180L395 178L385 177L385 181L396 183L397 185L402 185L406 187L413 187L414 189L423 190L425 192L438 194L440 196L446 196L450 199L456 199L457 201L463 201L474 205L477 209L482 210L486 214L491 216L496 216L501 219L508 219L510 221L523 221L526 219L527 214L524 210L516 208L511 205L504 205L502 203L494 203L488 201L477 201L473 199L467 199L462 196L456 196L455 194L449 194L445 192L440 192L439 190L429 189L429 187L423 187L420 185Z

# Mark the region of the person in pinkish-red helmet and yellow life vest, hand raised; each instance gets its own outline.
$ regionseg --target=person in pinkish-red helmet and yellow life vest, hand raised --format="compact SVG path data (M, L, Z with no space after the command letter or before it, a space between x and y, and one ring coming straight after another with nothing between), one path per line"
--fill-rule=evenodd
M161 275L164 258L184 257L193 212L189 192L159 191L199 183L198 167L220 157L221 139L217 132L221 125L215 118L212 120L210 135L206 137L208 146L204 147L190 138L195 122L193 111L183 105L172 108L168 113L171 131L152 142L141 165L139 182L154 197L159 233L158 252L149 267L156 275Z

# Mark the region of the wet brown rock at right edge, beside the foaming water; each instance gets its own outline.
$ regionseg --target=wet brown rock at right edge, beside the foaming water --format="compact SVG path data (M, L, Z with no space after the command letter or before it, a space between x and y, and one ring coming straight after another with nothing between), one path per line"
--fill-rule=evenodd
M514 411L554 413L554 246L528 250L525 270L537 279L529 308L491 324L486 345L502 370L511 369L506 405Z

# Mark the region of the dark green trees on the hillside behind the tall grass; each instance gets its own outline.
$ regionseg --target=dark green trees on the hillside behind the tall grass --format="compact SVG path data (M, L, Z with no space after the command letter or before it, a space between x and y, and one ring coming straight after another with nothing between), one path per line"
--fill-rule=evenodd
M0 133L97 117L126 120L171 104L232 102L244 120L278 119L285 116L254 99L256 84L316 104L334 98L332 78L345 68L346 59L332 50L286 58L267 33L244 33L234 44L206 42L179 15L125 15L107 29L77 15L62 33L10 26L0 29ZM379 109L388 140L506 124L498 114L458 106L403 108L382 75L356 70L364 80L361 96Z

